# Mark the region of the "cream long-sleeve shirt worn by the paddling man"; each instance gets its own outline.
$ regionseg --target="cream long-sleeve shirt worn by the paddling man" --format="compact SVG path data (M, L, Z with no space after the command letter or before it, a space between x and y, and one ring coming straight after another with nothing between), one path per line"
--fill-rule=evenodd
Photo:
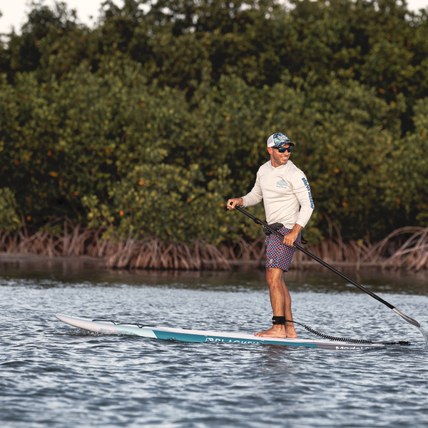
M288 229L296 223L304 228L314 210L306 175L292 161L276 168L270 161L260 166L253 190L243 196L244 206L262 199L267 224L282 223Z

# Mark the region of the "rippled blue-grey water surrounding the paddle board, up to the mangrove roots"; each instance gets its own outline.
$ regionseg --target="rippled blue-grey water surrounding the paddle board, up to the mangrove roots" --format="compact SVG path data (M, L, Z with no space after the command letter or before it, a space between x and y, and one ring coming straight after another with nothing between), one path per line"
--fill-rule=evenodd
M352 277L428 330L423 276ZM286 281L296 321L330 335L423 343L340 277L289 272ZM271 317L263 272L0 263L1 427L428 426L423 347L338 352L97 336L56 312L242 332L269 327Z

